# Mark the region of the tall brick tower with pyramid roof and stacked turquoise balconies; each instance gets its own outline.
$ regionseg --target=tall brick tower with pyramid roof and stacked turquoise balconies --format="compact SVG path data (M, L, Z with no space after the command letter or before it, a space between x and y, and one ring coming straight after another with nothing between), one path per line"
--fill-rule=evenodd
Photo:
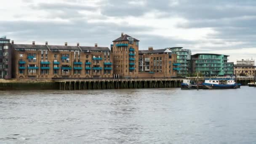
M139 40L121 33L121 37L113 40L112 54L114 77L139 76Z

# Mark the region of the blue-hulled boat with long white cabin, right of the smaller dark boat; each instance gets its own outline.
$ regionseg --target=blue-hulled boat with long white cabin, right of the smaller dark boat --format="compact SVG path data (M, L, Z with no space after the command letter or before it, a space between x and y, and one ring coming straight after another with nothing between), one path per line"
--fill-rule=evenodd
M240 88L240 83L235 83L233 78L209 78L202 83L204 88L208 89L229 89Z

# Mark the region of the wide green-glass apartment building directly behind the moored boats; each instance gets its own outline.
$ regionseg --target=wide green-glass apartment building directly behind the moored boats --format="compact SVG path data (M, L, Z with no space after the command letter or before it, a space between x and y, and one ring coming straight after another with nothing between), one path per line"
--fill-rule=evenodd
M192 73L200 73L205 77L233 76L234 63L227 62L227 55L198 53L192 55Z

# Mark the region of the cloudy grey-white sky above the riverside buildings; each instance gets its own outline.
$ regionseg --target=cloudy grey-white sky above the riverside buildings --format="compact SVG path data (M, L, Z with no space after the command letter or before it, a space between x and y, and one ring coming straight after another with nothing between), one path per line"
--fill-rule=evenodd
M256 0L3 0L0 35L15 43L107 46L121 32L139 48L256 58Z

